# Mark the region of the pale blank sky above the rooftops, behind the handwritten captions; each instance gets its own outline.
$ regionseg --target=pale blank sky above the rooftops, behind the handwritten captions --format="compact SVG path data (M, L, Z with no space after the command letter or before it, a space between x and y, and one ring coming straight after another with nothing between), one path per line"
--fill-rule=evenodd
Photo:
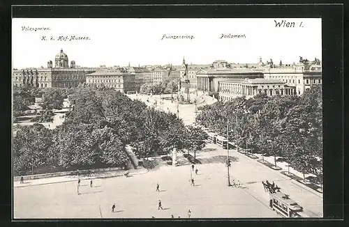
M276 26L282 21L281 27ZM189 64L218 59L258 63L260 56L274 63L298 62L299 56L322 58L320 18L13 18L12 22L13 68L17 69L46 67L61 49L69 62L82 67L181 65L183 57ZM283 26L285 22L295 26ZM71 36L89 40L70 40Z

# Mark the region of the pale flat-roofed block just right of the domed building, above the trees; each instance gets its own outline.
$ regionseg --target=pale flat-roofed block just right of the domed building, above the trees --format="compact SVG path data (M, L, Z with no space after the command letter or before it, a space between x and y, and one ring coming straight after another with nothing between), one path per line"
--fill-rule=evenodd
M114 72L93 72L86 75L86 84L97 87L114 88L121 93L136 91L135 74L126 70Z

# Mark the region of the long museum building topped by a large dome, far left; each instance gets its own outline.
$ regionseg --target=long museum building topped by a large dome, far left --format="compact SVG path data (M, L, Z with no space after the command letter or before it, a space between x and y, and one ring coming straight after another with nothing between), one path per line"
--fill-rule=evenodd
M26 68L13 70L13 84L15 86L36 86L40 88L72 88L86 81L86 75L94 70L75 68L75 61L68 61L68 55L63 49L47 61L47 68Z

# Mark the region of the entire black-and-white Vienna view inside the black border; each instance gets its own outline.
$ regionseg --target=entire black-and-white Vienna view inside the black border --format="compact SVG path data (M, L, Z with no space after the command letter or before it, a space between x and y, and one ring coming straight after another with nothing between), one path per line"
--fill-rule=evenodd
M13 218L324 217L321 18L13 18Z

